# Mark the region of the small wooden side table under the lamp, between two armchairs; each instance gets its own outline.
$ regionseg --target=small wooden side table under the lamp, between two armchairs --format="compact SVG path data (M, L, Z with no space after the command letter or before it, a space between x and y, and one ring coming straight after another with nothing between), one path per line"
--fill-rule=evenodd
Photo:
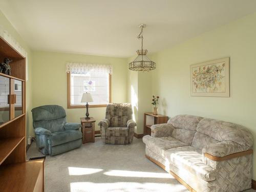
M94 130L95 130L95 119L90 117L90 119L86 119L85 117L81 117L81 131L82 131L82 143L95 142Z

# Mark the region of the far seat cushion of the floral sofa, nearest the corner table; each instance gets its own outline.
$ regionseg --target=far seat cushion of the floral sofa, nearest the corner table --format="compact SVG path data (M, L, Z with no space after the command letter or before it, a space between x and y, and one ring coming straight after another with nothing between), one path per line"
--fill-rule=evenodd
M143 142L146 144L150 150L152 150L157 155L164 157L165 151L169 148L186 146L186 143L183 143L173 137L151 137L146 135L142 138Z

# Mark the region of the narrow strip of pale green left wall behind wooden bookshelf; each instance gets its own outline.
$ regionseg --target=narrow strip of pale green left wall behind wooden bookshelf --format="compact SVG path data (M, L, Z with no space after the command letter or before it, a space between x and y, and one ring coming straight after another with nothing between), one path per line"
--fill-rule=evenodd
M9 20L5 17L5 15L0 11L0 25L3 29L8 31L9 34L18 41L19 45L22 46L28 53L28 80L26 81L26 111L27 111L27 137L32 135L32 131L29 127L32 126L32 117L29 113L32 107L32 53L30 48L27 46L26 42L20 37L14 27L11 25ZM28 139L26 140L28 141Z

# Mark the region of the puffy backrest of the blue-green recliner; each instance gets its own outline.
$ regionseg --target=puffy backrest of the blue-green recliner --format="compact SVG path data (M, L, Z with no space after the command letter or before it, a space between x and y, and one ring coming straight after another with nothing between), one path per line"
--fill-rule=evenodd
M33 127L42 127L52 133L63 131L66 121L66 111L59 105L38 106L32 111Z

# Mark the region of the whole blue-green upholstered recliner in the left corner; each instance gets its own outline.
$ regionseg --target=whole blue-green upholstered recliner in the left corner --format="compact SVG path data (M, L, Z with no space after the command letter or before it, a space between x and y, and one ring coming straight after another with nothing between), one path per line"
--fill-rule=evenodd
M44 105L32 109L37 149L44 155L57 155L81 146L80 123L67 123L62 106Z

